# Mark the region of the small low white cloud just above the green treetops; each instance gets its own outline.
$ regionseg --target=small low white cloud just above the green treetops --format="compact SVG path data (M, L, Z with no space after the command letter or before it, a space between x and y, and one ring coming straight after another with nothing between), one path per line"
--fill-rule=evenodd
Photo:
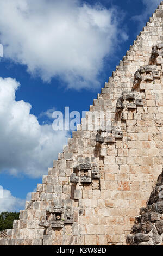
M20 209L24 209L24 205L26 202L25 200L12 196L11 192L9 190L3 189L2 186L0 186L0 192L0 212L15 212L19 211Z

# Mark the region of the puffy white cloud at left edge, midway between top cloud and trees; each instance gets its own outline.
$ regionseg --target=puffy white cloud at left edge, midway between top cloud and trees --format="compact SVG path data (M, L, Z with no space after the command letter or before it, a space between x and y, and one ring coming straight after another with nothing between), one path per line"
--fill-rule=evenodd
M68 131L53 131L30 114L31 105L16 101L20 84L0 78L0 171L39 177L47 173L53 159L67 144Z

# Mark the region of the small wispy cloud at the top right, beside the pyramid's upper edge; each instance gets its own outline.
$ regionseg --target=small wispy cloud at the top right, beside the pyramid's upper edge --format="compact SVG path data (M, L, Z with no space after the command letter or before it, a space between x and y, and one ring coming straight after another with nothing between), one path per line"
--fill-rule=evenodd
M142 0L142 3L144 5L142 13L133 17L135 21L139 22L139 29L142 29L142 27L146 25L149 17L152 17L152 14L154 13L160 2L160 0Z

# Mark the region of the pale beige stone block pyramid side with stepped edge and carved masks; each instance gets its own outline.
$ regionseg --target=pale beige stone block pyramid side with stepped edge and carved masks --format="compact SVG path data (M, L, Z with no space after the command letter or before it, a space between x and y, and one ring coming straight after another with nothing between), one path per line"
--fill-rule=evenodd
M126 244L162 172L162 30L163 1L1 245Z

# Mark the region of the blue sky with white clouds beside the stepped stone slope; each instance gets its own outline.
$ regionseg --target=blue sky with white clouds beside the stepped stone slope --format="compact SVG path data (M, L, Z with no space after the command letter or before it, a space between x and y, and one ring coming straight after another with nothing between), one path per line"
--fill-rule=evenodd
M159 3L1 1L0 211L24 208L71 136L49 109L88 111Z

